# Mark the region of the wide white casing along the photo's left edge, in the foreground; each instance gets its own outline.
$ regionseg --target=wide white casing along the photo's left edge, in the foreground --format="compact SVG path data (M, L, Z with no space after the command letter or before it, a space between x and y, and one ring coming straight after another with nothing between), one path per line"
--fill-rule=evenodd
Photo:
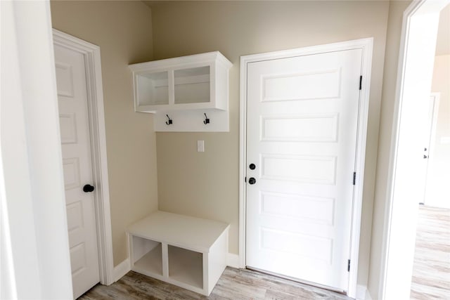
M71 299L50 4L0 13L0 298Z

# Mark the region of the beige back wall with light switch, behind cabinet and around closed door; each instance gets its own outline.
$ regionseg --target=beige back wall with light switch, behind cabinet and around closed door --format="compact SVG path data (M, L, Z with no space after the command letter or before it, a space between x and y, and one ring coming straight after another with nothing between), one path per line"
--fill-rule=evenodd
M358 280L366 285L388 9L388 1L154 4L155 59L218 50L233 63L229 133L157 133L159 208L231 223L229 251L237 254L240 56L374 37Z

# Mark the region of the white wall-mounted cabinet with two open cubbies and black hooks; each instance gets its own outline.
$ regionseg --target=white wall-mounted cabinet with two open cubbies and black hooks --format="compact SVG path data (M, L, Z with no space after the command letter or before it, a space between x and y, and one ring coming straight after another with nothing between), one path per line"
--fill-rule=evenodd
M156 114L156 131L229 131L231 66L219 51L129 65L134 109Z

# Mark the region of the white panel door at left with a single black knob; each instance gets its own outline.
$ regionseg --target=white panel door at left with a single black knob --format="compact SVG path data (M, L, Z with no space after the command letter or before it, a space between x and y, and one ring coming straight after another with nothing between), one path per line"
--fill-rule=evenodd
M94 185L85 60L77 51L54 48L72 285L77 298L100 281L94 195L84 191L85 185Z

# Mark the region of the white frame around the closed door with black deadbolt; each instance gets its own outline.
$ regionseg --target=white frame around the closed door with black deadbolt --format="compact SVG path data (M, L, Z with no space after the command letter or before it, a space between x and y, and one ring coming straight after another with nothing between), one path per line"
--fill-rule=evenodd
M239 147L239 266L245 268L245 214L246 214L246 188L245 176L247 173L247 70L249 63L278 58L290 58L331 51L345 51L361 48L363 61L361 67L362 89L360 94L358 133L356 143L356 185L354 186L354 203L352 211L352 235L349 259L352 263L349 271L348 296L356 297L356 280L358 275L359 235L361 230L361 208L364 183L364 163L366 159L366 133L368 122L368 103L371 84L371 67L373 38L356 39L341 43L296 48L286 51L254 54L240 57L240 147Z

